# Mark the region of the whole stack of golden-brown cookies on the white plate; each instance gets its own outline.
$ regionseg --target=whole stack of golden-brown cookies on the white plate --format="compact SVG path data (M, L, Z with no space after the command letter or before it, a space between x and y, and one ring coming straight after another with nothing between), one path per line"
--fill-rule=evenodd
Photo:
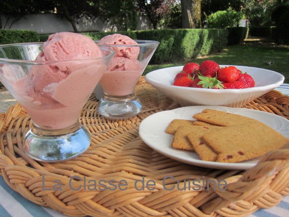
M172 147L195 151L204 161L242 162L289 143L268 125L238 114L204 109L193 118L174 119L166 133L174 135Z

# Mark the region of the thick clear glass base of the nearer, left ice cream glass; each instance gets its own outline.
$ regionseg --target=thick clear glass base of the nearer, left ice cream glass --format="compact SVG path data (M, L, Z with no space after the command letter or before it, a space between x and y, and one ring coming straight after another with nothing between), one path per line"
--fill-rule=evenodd
M43 130L33 126L25 135L25 153L42 162L62 162L84 153L91 143L89 131L80 124L61 130Z

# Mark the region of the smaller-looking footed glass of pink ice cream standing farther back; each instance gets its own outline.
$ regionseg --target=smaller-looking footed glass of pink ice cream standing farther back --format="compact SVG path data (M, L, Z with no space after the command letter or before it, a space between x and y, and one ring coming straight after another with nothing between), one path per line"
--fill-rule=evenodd
M101 48L115 51L99 82L103 95L99 99L98 113L111 119L137 115L142 110L142 102L135 95L135 87L159 42L133 40L128 36L113 34L96 43ZM101 88L96 88L96 92L99 90Z

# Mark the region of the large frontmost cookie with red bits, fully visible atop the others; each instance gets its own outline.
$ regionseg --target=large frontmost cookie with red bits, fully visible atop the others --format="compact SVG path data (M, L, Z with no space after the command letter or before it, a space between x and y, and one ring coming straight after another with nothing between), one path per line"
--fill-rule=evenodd
M228 163L256 158L289 143L288 138L259 121L208 132L203 140L218 154L217 162Z

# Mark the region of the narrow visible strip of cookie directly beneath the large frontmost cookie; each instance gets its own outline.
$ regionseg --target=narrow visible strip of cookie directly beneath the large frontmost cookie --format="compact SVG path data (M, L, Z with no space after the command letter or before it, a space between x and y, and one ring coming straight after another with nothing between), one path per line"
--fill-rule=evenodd
M203 161L216 161L217 153L208 146L202 139L202 136L213 130L222 129L221 126L193 126L193 132L188 134L188 139L193 146L194 151Z

